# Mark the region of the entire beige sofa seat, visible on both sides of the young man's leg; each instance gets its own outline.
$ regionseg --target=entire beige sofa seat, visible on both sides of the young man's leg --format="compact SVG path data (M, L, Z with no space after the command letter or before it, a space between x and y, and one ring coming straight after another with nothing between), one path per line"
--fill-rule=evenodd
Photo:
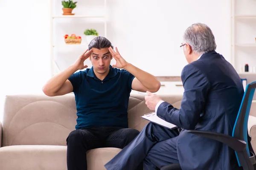
M87 170L105 170L121 149L97 148L87 152ZM67 147L14 145L0 147L0 170L67 170Z

